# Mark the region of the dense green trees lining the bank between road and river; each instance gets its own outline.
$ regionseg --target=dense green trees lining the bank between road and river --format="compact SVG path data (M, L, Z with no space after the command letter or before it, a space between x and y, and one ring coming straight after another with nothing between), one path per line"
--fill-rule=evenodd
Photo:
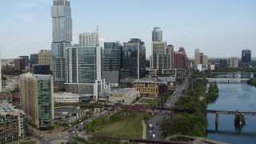
M164 138L174 134L206 137L208 124L205 110L208 103L218 98L218 86L212 83L207 88L207 74L203 73L196 72L192 75L185 96L175 103L177 108L188 111L175 112L163 119L161 129Z

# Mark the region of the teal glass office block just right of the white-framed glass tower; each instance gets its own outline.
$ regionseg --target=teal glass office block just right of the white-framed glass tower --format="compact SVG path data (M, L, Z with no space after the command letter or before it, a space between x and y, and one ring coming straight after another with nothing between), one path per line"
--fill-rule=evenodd
M118 85L121 70L122 45L119 42L104 42L102 73L107 83Z

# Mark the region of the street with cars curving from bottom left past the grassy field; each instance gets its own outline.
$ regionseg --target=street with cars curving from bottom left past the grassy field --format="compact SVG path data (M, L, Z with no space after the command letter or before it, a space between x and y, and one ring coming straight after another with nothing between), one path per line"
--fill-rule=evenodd
M94 114L92 117L87 118L85 121L79 122L77 125L70 127L70 129L63 131L61 134L58 134L58 137L48 137L48 138L39 138L42 143L61 143L61 142L74 142L74 136L82 132L85 129L86 124L92 122L94 119L110 114L110 111L103 110L100 114ZM38 138L38 135L33 134L34 138ZM79 142L78 142L79 143Z

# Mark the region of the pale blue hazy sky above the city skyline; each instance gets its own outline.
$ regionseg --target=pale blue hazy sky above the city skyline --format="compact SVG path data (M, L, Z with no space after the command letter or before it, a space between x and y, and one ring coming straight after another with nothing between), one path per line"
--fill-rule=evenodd
M1 0L2 58L50 50L53 0ZM209 58L256 57L255 0L70 0L73 42L98 26L103 42L140 38L150 57L152 30L161 27L163 41L174 50L185 47L189 58L199 49Z

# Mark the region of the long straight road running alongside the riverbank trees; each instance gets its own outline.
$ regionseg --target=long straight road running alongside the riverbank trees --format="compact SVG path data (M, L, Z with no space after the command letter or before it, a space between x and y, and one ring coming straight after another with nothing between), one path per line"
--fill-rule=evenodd
M192 71L190 71L190 73L186 75L185 80L178 87L178 89L175 90L174 93L170 95L170 98L168 98L168 100L166 101L166 104L165 104L166 107L174 106L175 102L178 101L178 98L182 96L182 90L186 89L186 85L189 81L191 74L192 74ZM154 117L150 119L150 124L152 124L152 126L154 127L154 129L150 130L150 135L149 135L150 139L155 139L155 140L162 139L160 124L162 122L162 118L166 114L168 114L168 111L158 110L158 111L156 111L156 114L154 115ZM153 138L153 134L155 135L155 138Z

